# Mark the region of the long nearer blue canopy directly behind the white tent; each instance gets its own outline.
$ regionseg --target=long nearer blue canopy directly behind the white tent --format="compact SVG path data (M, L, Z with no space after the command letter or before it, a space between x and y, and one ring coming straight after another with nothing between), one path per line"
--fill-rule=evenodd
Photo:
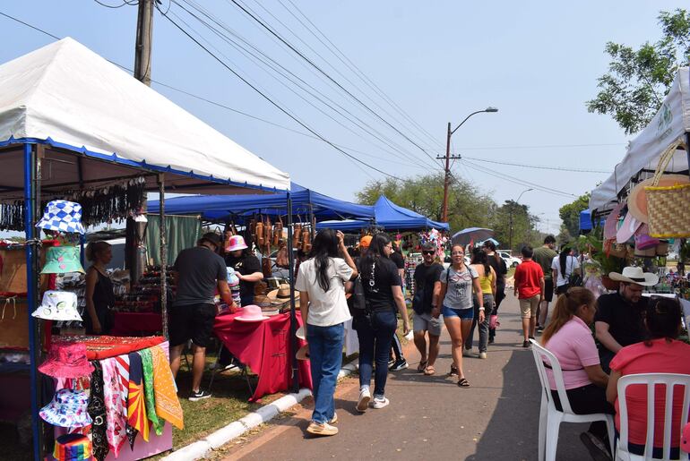
M252 195L194 195L177 197L165 201L168 215L201 214L208 221L233 220L244 223L254 214L285 216L287 211L287 192ZM322 193L290 183L292 216L310 220L312 214L317 221L338 218L374 219L374 207L340 201ZM159 201L149 201L148 210L156 213ZM365 221L368 226L368 222Z

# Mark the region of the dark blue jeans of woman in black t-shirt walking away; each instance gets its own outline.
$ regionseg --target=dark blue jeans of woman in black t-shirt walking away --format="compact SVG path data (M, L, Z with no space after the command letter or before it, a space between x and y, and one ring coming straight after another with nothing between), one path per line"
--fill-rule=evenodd
M385 381L388 379L388 355L391 352L392 336L398 326L395 312L382 311L371 314L371 322L353 320L359 339L359 388L369 387L374 361L374 397L384 397Z

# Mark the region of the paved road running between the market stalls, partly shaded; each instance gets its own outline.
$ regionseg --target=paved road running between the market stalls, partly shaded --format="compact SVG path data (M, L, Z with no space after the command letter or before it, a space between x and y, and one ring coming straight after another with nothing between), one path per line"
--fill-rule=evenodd
M418 353L408 348L410 369L389 375L390 406L358 414L358 381L350 378L336 393L338 435L315 438L305 431L309 402L303 411L231 448L226 459L536 460L539 378L530 351L522 349L517 300L508 295L501 311L501 328L487 360L465 360L470 388L458 388L446 375L452 359L444 331L436 376L418 373ZM558 460L590 459L578 439L585 429L561 425Z

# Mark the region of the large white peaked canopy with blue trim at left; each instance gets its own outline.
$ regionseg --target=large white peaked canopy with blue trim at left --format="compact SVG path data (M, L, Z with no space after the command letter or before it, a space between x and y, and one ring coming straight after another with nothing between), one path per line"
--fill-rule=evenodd
M0 89L0 146L30 141L46 147L47 160L58 157L46 188L122 177L134 166L165 172L176 192L289 190L287 173L72 38L0 65ZM7 150L4 165L22 162L22 149ZM82 154L81 173L59 158L65 150ZM0 179L0 193L13 190L22 190L21 175Z

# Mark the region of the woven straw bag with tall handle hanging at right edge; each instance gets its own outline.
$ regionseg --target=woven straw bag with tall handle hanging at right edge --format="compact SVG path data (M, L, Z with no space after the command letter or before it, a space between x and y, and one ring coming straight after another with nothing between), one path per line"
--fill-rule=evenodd
M659 186L659 180L680 142L668 148L659 160L647 195L650 235L657 238L690 237L690 184Z

